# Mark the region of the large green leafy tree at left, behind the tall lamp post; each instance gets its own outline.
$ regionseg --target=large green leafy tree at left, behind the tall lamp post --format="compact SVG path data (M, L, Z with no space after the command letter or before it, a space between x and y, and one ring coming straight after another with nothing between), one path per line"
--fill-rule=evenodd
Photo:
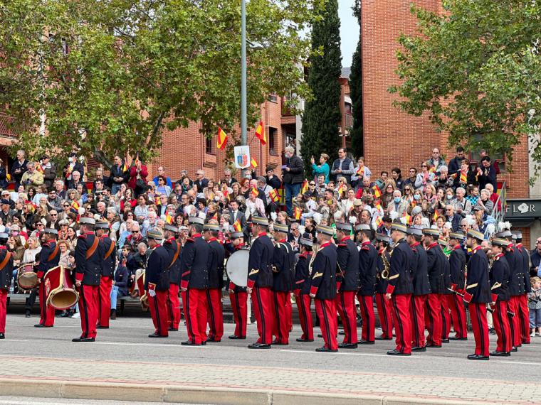
M302 33L322 3L248 2L247 36L265 45L248 48L249 123L270 93L308 95ZM240 1L0 0L0 66L16 147L59 159L73 148L103 162L137 151L152 158L166 127L194 121L205 136L217 126L234 132Z

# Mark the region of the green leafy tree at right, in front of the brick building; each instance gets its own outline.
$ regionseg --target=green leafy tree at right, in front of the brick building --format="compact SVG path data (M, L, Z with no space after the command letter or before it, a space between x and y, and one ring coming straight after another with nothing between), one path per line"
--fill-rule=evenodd
M403 80L389 91L409 114L428 112L449 144L486 148L513 158L530 136L541 160L541 3L531 0L444 0L438 15L412 6L419 32L401 35Z

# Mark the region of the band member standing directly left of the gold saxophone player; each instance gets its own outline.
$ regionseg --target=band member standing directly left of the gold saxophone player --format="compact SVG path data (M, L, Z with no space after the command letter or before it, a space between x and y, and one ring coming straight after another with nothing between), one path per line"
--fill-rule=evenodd
M376 248L370 243L370 237L372 236L370 225L357 225L355 231L359 237L359 242L361 242L361 250L359 251L360 285L357 292L357 300L361 306L362 316L362 334L359 344L374 345L376 325L372 297L376 292L377 252Z

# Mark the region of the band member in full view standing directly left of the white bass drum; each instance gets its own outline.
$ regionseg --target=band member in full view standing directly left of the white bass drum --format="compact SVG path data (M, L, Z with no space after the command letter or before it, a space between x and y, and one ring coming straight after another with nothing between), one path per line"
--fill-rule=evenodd
M221 308L221 289L224 288L224 259L226 250L218 241L220 226L218 221L210 220L203 227L204 238L210 247L209 288L206 289L206 318L209 323L207 342L220 342L224 336L224 312Z

